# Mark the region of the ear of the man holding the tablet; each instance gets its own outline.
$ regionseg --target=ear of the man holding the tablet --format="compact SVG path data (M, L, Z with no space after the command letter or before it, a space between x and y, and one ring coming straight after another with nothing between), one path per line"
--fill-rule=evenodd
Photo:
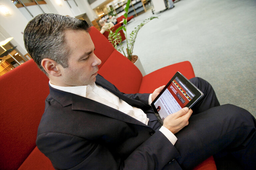
M43 59L41 61L41 66L49 75L52 75L54 77L58 77L61 75L60 68L59 68L61 66L51 59Z

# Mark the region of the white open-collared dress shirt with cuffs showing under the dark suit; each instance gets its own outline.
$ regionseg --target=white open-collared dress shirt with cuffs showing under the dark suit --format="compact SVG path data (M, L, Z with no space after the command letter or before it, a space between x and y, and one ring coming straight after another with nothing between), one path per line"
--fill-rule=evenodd
M137 107L132 107L107 89L96 85L93 83L92 85L82 85L82 86L71 86L71 87L64 87L64 86L57 86L53 85L49 82L50 86L53 88L70 92L82 97L86 97L89 99L92 99L94 101L100 102L102 104L105 104L109 107L112 107L116 110L119 110L129 116L132 116L133 118L141 121L142 123L148 125L149 118L147 118L147 115L144 113L144 111ZM151 94L152 95L152 94ZM151 95L149 97L149 104L151 104ZM176 136L168 130L166 127L162 126L159 131L161 131L174 145L177 141Z

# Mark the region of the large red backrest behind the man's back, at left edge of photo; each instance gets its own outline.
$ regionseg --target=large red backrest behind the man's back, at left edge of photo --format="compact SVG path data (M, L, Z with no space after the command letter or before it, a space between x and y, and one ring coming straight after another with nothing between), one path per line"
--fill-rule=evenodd
M0 169L18 169L35 148L48 81L33 60L0 77Z

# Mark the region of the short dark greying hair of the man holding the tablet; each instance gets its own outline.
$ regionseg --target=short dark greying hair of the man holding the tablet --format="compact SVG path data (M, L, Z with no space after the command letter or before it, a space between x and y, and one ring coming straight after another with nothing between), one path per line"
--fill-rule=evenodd
M65 30L89 31L90 26L84 20L58 14L40 14L29 21L24 30L25 47L40 70L45 58L51 59L63 68L68 67L70 50L65 43Z

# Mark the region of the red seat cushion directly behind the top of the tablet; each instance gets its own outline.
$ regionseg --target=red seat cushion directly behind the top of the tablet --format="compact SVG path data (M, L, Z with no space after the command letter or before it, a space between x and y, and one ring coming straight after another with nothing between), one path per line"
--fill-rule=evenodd
M189 61L176 63L144 76L139 93L152 93L156 88L166 85L177 71L181 72L187 79L195 77L193 67Z

